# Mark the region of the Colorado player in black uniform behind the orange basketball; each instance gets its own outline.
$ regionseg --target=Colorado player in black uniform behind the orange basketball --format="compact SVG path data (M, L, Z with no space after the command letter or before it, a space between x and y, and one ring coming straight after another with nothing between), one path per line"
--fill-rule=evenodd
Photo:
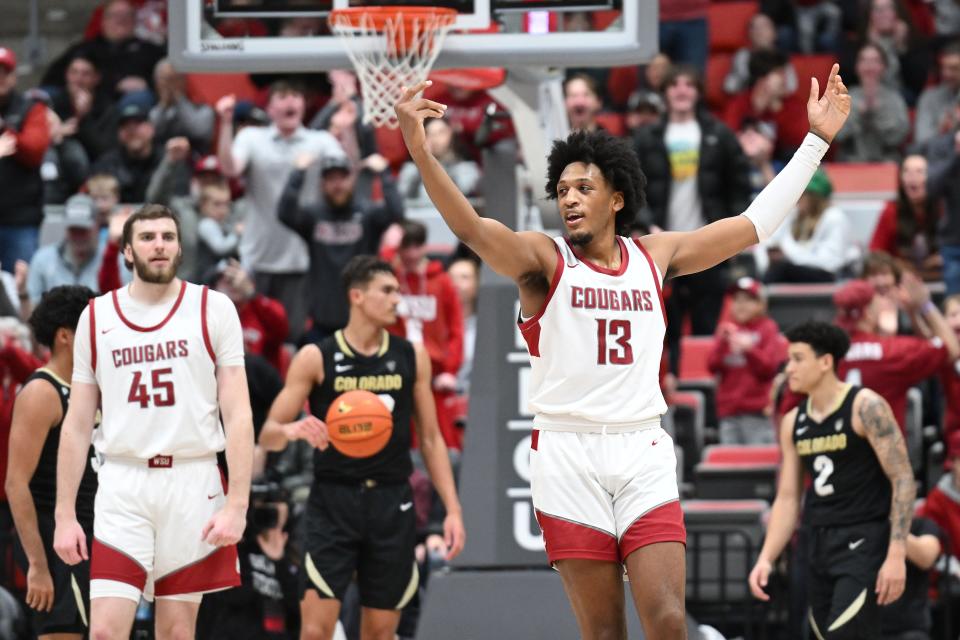
M430 357L422 345L389 335L397 318L400 285L390 265L353 258L343 271L350 320L343 330L303 347L260 434L260 446L283 449L303 439L317 448L306 511L301 638L329 640L354 574L360 587L361 637L393 638L400 610L416 591L416 528L409 476L410 419L427 471L447 510L443 530L453 558L464 529L447 447L437 425ZM392 405L387 445L368 458L350 458L328 446L316 416L345 390L368 389ZM297 419L304 402L310 414Z

